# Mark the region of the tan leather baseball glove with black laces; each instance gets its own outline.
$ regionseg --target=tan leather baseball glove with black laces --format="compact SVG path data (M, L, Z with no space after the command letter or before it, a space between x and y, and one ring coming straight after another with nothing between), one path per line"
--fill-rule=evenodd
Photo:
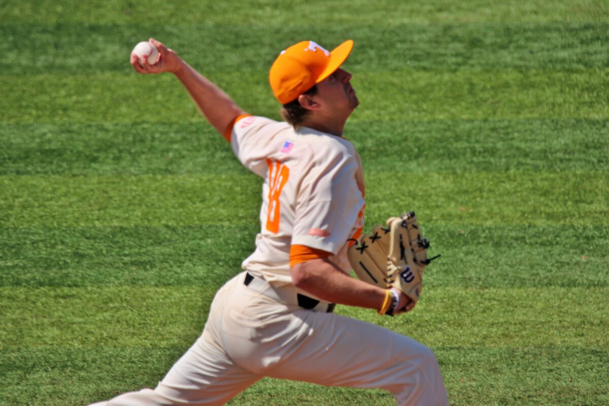
M383 289L398 289L416 304L423 288L424 268L440 257L428 259L428 248L429 240L421 236L417 217L411 211L390 217L387 227L373 227L371 234L362 236L347 254L359 279ZM401 310L385 304L383 307L379 314L393 315Z

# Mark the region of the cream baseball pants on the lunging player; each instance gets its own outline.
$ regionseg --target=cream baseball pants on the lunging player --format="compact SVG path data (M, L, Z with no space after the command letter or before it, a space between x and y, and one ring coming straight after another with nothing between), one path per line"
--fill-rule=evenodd
M246 286L245 275L217 292L203 334L157 388L91 406L223 405L263 377L380 388L398 405L448 405L426 346L375 324L279 302Z

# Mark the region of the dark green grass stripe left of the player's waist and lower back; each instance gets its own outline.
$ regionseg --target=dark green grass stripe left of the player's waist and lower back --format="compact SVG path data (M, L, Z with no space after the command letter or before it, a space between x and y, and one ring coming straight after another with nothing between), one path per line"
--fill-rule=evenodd
M0 229L0 285L211 286L241 270L259 226Z

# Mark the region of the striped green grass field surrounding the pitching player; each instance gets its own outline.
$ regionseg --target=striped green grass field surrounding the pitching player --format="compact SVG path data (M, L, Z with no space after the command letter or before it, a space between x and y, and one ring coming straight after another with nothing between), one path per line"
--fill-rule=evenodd
M278 119L281 49L353 38L367 224L417 211L417 310L337 307L432 348L451 405L609 405L609 2L0 2L0 405L155 387L254 247L260 182L164 41ZM393 405L264 379L230 405Z

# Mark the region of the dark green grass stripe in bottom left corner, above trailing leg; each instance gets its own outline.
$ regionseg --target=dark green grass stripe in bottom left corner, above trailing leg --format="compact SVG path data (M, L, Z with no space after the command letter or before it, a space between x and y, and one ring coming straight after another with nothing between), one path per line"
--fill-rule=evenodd
M154 388L186 348L2 349L0 405L88 405Z

